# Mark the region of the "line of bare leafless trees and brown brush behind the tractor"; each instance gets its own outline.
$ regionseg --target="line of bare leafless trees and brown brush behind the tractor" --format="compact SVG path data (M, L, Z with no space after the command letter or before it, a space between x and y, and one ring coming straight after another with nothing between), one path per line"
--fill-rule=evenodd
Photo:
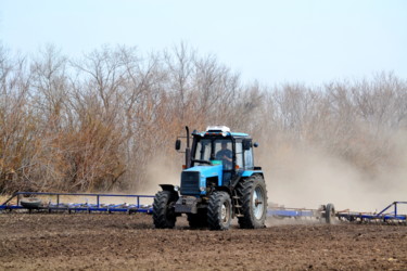
M264 145L311 144L374 175L407 130L407 81L242 83L214 55L180 44L141 54L102 47L80 59L0 47L0 192L137 191L156 157L182 163L186 125L227 125ZM158 166L157 166L158 167ZM157 168L160 170L160 168Z

